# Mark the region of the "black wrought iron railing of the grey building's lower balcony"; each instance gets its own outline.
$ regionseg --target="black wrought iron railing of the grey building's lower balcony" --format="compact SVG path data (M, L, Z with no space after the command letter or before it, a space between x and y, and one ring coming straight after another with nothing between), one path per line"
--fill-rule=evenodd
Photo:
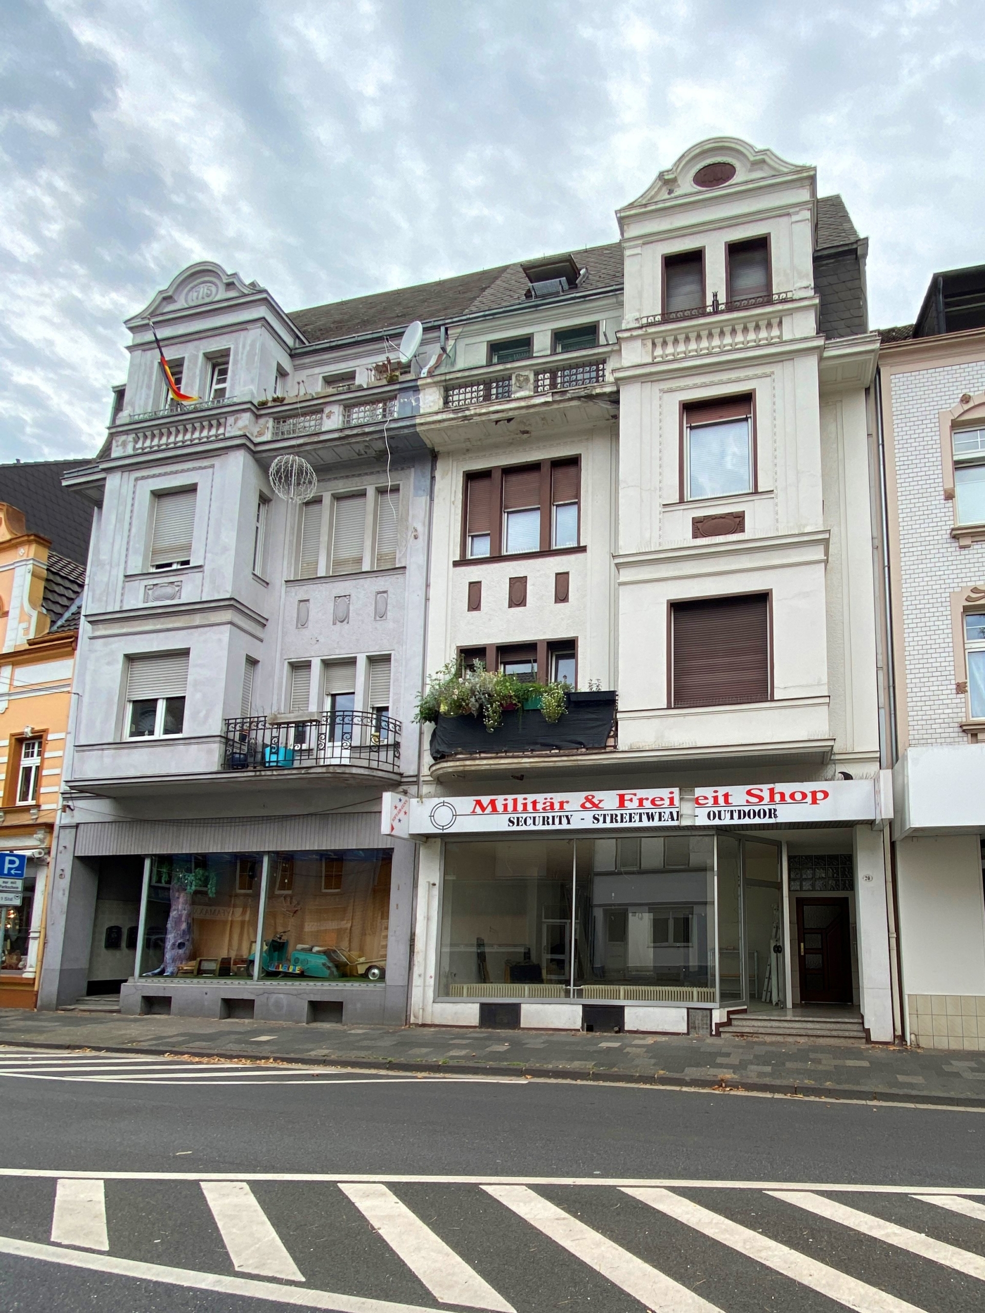
M226 721L223 771L355 765L398 771L401 722L383 712L326 712L271 723L265 716Z

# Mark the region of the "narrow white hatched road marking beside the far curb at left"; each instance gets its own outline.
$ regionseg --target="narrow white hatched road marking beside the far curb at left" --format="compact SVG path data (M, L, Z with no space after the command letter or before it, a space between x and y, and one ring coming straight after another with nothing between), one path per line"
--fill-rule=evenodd
M373 1081L512 1081L517 1077L399 1075L340 1071L338 1067L264 1062L248 1058L193 1058L131 1053L85 1053L60 1050L0 1049L0 1081L70 1081L87 1085L366 1085Z

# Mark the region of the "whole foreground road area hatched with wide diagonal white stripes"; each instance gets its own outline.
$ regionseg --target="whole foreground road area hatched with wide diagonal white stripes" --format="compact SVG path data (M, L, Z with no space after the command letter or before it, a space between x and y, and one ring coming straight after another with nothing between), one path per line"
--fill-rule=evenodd
M1 1174L0 1254L339 1313L985 1306L985 1188Z

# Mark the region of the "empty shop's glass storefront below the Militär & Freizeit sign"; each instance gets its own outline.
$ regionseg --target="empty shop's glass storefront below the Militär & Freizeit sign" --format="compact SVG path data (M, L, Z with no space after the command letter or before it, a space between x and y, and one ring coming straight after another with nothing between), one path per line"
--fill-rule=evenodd
M447 840L437 993L766 998L781 906L779 846L728 834Z

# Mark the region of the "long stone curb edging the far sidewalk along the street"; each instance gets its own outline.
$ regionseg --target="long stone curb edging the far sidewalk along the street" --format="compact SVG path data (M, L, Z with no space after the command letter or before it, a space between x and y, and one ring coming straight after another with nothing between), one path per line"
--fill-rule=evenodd
M255 1049L222 1048L218 1044L210 1049L189 1049L180 1044L154 1044L151 1041L130 1041L126 1044L93 1044L92 1040L81 1043L79 1040L64 1039L58 1043L53 1040L14 1040L4 1041L0 1032L0 1045L30 1046L35 1049L76 1049L80 1052L98 1049L101 1053L143 1053L152 1057L171 1056L188 1058L247 1058L251 1062L267 1060L285 1066L323 1066L348 1067L360 1071L387 1071L407 1073L411 1075L479 1075L479 1077L514 1077L515 1079L531 1081L571 1081L592 1085L633 1085L649 1086L667 1090L695 1090L712 1094L753 1094L776 1095L780 1098L797 1099L831 1099L838 1102L854 1100L862 1103L884 1103L904 1106L925 1106L940 1108L969 1108L972 1111L985 1111L985 1096L931 1094L917 1090L880 1090L854 1086L827 1086L797 1083L788 1081L746 1081L737 1077L690 1077L672 1073L646 1073L646 1071L616 1071L592 1066L538 1066L520 1062L450 1062L444 1060L426 1058L387 1058L387 1057L348 1057L344 1053L332 1054L284 1054L267 1050L263 1057Z

